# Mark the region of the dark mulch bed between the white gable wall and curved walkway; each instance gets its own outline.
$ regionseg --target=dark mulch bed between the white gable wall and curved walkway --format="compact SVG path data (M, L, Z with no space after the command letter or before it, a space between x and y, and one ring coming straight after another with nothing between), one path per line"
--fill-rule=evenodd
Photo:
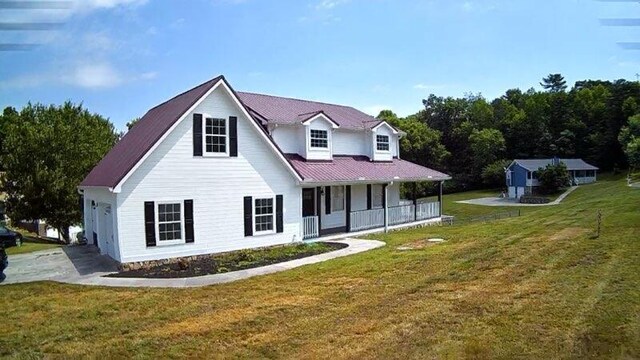
M219 274L301 259L343 249L347 246L348 245L342 243L319 242L256 250L240 250L224 254L213 254L188 262L179 261L144 269L121 271L106 276L167 279Z

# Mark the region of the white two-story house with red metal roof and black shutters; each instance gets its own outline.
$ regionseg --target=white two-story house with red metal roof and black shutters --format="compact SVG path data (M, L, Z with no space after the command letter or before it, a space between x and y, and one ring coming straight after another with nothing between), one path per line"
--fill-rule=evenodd
M149 110L84 179L85 234L128 263L437 221L441 201L401 202L400 183L449 176L402 160L402 135L219 76Z

